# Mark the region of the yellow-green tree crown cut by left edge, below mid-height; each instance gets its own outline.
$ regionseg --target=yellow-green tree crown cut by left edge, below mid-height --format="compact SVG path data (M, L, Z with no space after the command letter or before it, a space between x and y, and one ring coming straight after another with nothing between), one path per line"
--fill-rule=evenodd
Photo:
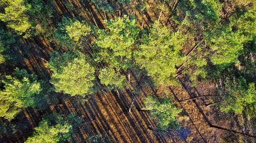
M20 109L36 106L34 99L41 88L34 75L29 75L26 70L16 69L14 77L8 75L2 82L5 89L0 91L0 117L12 120Z

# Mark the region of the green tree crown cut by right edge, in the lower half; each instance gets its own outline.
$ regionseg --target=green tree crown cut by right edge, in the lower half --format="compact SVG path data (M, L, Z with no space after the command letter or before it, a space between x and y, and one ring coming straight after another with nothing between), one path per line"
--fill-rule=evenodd
M225 83L226 95L220 103L220 109L224 112L242 113L246 108L255 107L256 89L254 83L246 83L240 77L237 81L230 79Z

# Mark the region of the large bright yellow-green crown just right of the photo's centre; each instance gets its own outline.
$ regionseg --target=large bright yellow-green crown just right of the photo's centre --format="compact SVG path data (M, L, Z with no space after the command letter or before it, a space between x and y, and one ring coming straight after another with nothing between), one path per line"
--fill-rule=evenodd
M146 69L156 85L172 83L176 76L175 65L183 62L180 50L184 41L182 33L170 34L167 27L155 22L150 31L142 35L142 44L135 51L136 63Z

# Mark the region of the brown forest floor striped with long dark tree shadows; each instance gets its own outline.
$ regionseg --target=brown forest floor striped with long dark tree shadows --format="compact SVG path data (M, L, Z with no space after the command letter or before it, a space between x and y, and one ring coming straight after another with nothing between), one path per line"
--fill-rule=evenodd
M98 12L89 3L81 4L73 1L71 3L75 6L73 10L60 1L54 1L54 4L59 15L80 15L97 26L104 27L102 12ZM157 14L154 13L143 16L136 11L134 13L136 18L141 20L139 25L149 25L148 23L157 19ZM108 17L114 16L108 15ZM163 23L169 22L167 14L164 13L162 18L167 19ZM24 43L30 45L31 48L24 56L20 68L29 69L40 78L49 79L50 71L47 68L47 61L50 58L49 53L54 49L53 46L46 38L27 40ZM137 84L141 78L139 75L133 75L131 85ZM138 95L134 95L130 88L119 92L101 91L84 103L77 102L76 97L58 94L53 97L55 103L47 110L24 109L12 122L26 125L27 128L4 136L0 142L24 142L28 136L32 135L33 128L41 121L44 113L58 113L62 116L76 113L83 118L82 126L75 130L75 136L69 142L86 142L87 138L99 134L108 136L113 142L221 142L220 138L233 136L234 133L225 131L225 129L239 131L242 134L256 134L249 126L246 129L245 124L239 124L240 117L224 115L214 105L210 105L212 101L211 96L208 95L216 94L216 83L201 81L193 87L185 75L179 76L179 81L180 87L160 87L157 92L149 85L143 84L140 86ZM173 98L175 105L182 108L182 113L178 117L181 129L179 131L169 130L167 134L161 135L155 130L156 124L149 118L148 112L141 109L144 107L143 97L152 94L163 97L166 93L168 97ZM129 112L135 96L134 104ZM195 99L186 100L191 98ZM251 142L255 141L248 136L241 135L240 137L248 138Z

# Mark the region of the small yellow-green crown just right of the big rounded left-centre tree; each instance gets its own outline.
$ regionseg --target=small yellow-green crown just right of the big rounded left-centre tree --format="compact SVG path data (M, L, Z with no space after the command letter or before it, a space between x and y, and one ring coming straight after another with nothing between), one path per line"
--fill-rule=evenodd
M115 69L108 67L101 69L99 72L100 82L108 86L110 89L116 87L117 89L123 89L125 87L125 76L116 72Z

